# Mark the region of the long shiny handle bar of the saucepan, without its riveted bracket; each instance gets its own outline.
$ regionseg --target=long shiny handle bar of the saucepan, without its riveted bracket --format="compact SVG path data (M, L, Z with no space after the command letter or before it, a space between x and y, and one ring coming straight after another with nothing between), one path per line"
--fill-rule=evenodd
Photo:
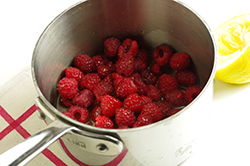
M59 120L55 120L45 130L38 132L1 154L1 165L16 166L26 164L50 144L74 128Z

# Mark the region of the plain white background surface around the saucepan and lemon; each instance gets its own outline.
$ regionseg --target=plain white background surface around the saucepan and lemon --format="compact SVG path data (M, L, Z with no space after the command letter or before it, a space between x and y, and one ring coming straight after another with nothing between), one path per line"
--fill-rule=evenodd
M78 0L0 1L0 86L30 65L45 27ZM212 30L250 13L247 0L183 0ZM250 165L250 85L215 80L212 116L204 144L182 166Z

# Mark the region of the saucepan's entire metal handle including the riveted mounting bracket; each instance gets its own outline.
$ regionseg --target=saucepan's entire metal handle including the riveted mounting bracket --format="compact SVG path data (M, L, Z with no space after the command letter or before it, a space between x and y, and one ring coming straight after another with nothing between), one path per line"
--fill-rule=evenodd
M81 142L84 142L84 144L87 145L85 147L86 152L111 157L117 156L123 151L124 144L119 138L113 137L109 134L80 130L73 125L67 124L62 120L53 117L39 97L37 97L35 101L38 108L43 113L46 113L46 116L52 118L52 123L50 123L43 131L27 138L20 144L1 154L1 166L26 164L50 144L68 132L73 135L71 138L72 140L80 138Z

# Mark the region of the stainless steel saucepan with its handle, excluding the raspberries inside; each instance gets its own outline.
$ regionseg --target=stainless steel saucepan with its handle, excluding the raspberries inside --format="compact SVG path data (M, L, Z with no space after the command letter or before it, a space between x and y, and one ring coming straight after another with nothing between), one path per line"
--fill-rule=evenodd
M166 43L188 53L202 92L177 114L139 128L101 129L66 117L56 90L64 69L77 54L102 52L104 40L111 36L131 37L151 51ZM182 163L195 150L206 126L216 52L204 20L177 0L86 0L73 5L48 25L32 58L39 94L35 101L48 127L1 154L1 165L23 165L56 140L79 165Z

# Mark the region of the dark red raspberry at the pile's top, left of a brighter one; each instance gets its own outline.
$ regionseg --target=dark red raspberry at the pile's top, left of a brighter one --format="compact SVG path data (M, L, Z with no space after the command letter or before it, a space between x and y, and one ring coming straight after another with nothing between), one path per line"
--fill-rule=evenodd
M114 57L117 54L121 41L117 38L110 37L104 41L104 53L107 57Z

